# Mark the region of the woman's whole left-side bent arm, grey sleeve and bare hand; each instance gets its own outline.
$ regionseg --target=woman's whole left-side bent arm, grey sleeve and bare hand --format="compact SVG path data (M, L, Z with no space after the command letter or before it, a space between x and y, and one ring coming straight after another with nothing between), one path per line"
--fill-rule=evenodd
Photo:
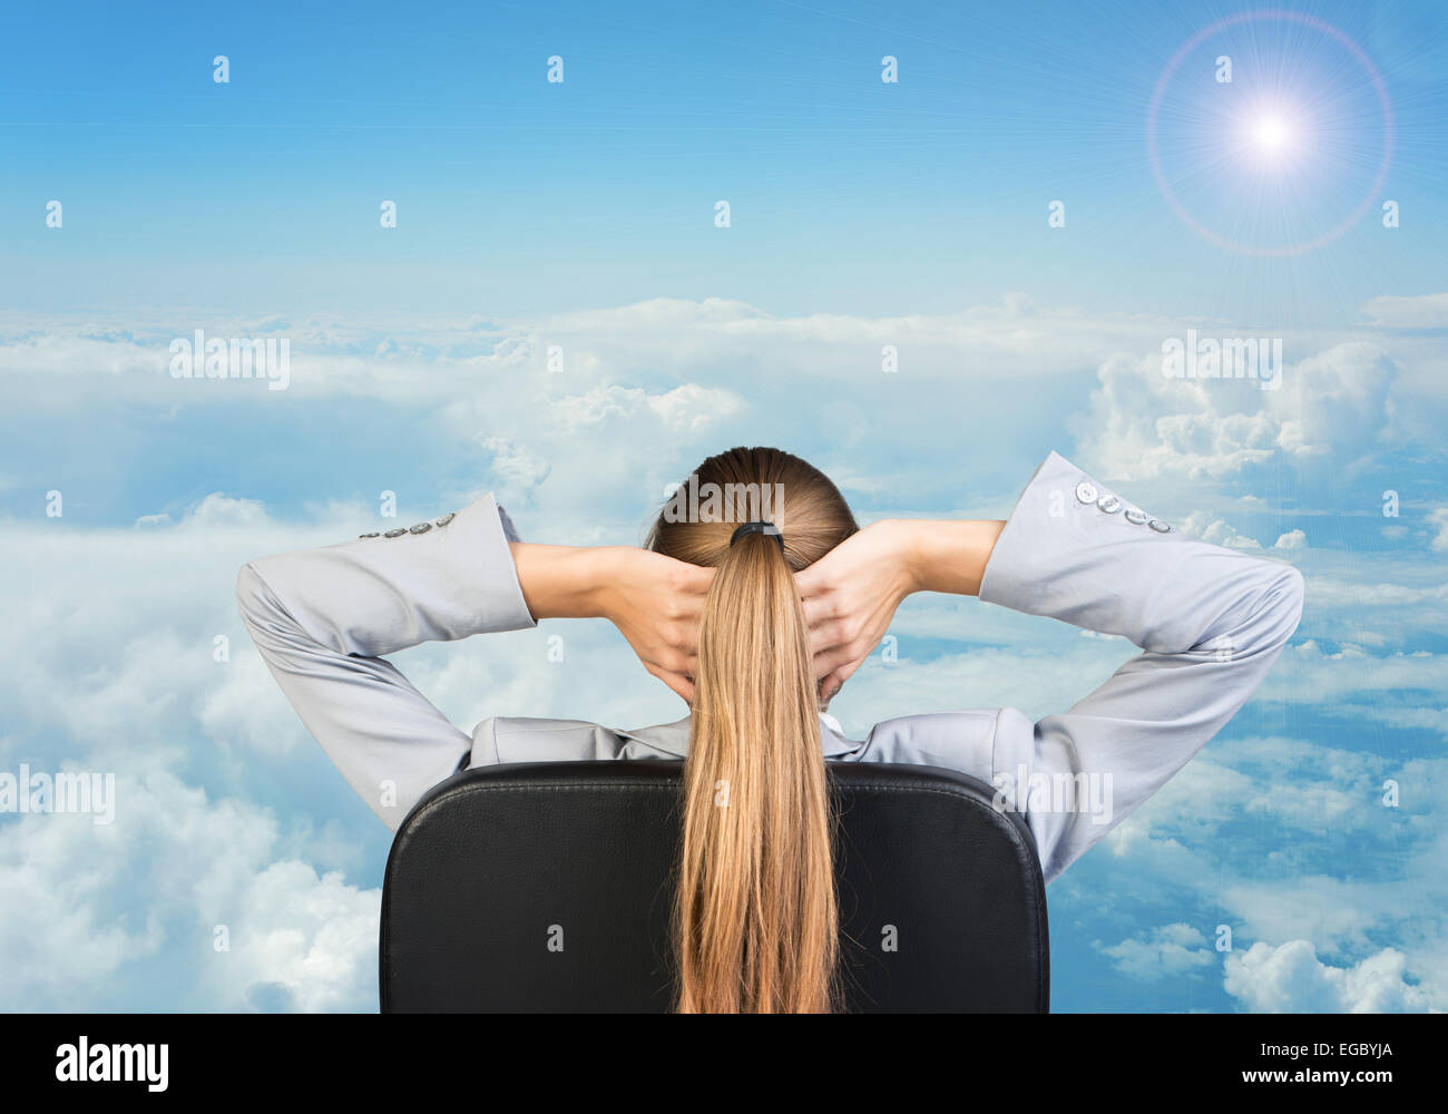
M649 672L689 698L696 613L711 575L640 549L523 543L488 495L416 535L251 561L236 601L297 716L395 832L469 756L472 737L385 655L599 616L618 626Z

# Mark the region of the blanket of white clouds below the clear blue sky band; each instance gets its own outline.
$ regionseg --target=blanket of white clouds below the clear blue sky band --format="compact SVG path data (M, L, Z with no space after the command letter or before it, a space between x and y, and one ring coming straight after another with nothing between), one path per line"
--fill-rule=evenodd
M290 335L294 388L171 380L155 355L197 324ZM114 769L143 813L117 820L126 847L56 817L0 820L0 960L28 972L3 1001L375 1008L385 830L252 650L232 600L237 566L374 529L382 488L398 491L405 522L491 490L529 540L637 542L665 487L707 451L770 442L824 466L866 522L1001 517L1054 448L1103 479L1119 472L1124 495L1182 533L1290 558L1308 577L1303 633L1222 737L1058 884L1053 911L1090 926L1083 939L1114 942L1098 963L1164 1007L1174 979L1216 962L1202 931L1218 923L1268 947L1312 940L1342 971L1392 943L1405 987L1442 985L1434 832L1448 779L1432 756L1448 701L1448 501L1432 484L1448 375L1428 340L1319 332L1284 338L1279 391L1169 381L1158 346L1183 327L1012 296L938 316L653 300L497 322L0 332L7 401L35 443L80 443L81 398L156 435L98 427L94 462L41 461L42 490L75 469L59 484L64 520L28 507L0 519L12 572L0 610L25 632L0 645L0 758ZM886 345L899 372L880 368ZM152 440L177 448L146 456ZM222 482L227 461L246 465ZM14 459L0 491L25 497L36 471ZM1354 475L1373 488L1361 510ZM107 477L113 488L93 487ZM1386 536L1383 488L1412 491L1405 506L1426 516L1405 510L1405 529ZM947 597L912 597L891 633L899 662L876 655L835 703L857 737L911 713L1060 711L1137 653ZM560 662L544 653L549 635L563 637ZM636 727L683 713L599 621L394 662L465 730L489 714ZM1397 810L1381 803L1387 778L1402 787ZM48 897L36 879L54 872ZM107 872L135 875L129 898ZM229 952L211 950L217 924Z

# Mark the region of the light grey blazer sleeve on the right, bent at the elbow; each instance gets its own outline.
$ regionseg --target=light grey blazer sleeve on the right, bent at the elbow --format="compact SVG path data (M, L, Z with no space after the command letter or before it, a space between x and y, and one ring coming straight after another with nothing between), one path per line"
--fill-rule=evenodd
M1182 536L1053 452L996 540L980 598L1142 650L1063 713L996 719L993 781L1051 881L1247 703L1297 627L1303 579Z

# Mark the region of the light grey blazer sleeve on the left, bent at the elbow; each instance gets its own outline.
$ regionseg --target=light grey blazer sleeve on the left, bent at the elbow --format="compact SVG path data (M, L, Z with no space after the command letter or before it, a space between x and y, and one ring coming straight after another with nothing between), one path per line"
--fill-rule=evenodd
M485 495L421 533L258 558L237 575L242 621L281 691L394 832L472 737L382 658L536 626L510 540L513 523Z

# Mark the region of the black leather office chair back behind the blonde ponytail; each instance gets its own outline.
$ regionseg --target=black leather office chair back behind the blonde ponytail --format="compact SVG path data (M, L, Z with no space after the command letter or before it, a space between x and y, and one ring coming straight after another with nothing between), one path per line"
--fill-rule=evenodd
M828 762L850 1011L1045 1013L1045 884L982 782ZM666 1011L682 762L514 763L432 790L382 885L384 1013Z

